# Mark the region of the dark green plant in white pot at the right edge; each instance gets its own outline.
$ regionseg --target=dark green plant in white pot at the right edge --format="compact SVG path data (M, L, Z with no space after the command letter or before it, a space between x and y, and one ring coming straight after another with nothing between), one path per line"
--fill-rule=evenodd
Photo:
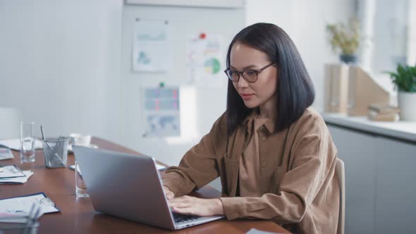
M416 66L398 65L396 72L388 72L398 90L400 119L416 121Z

